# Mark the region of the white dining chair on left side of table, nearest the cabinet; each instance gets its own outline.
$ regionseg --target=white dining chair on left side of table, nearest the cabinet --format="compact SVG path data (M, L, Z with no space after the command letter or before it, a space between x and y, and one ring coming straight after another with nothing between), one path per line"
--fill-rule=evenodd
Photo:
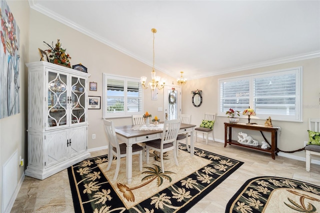
M119 168L120 168L120 159L122 157L126 157L126 144L125 143L120 143L118 142L114 130L114 125L111 120L107 120L103 118L103 123L104 123L104 129L107 135L107 138L109 140L109 146L108 148L112 148L112 151L110 152L110 155L108 156L108 166L106 170L108 171L110 169L112 159L113 159L113 154L116 156L116 168L115 168L115 173L113 180L116 180L118 173L119 173ZM132 155L134 154L139 154L139 169L140 171L142 170L142 150L143 148L138 145L138 144L132 144Z

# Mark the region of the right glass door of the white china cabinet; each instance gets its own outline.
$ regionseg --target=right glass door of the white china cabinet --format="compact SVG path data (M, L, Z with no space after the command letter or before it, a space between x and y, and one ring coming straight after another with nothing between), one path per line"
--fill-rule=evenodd
M71 124L85 122L85 79L71 76Z

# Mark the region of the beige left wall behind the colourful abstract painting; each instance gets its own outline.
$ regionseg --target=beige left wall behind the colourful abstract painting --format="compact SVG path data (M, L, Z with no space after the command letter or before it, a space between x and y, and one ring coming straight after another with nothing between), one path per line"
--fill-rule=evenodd
M28 1L6 1L20 29L20 113L0 119L0 206L2 209L2 168L3 164L17 150L18 156L26 160L26 102L27 70L29 49L29 4ZM3 11L2 11L3 12ZM25 161L26 162L26 161ZM18 180L24 172L18 168ZM0 210L1 211L1 210Z

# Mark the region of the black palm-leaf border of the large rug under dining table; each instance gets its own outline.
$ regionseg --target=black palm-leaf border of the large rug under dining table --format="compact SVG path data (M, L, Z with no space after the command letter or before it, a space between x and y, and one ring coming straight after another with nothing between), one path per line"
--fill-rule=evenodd
M182 150L182 151L187 151L186 147L185 147L185 144L183 144L183 143L179 143L179 149ZM220 154L216 154L216 153L213 153L213 152L210 152L210 151L206 151L206 150L194 147L194 155L197 155L198 157L204 157L203 153L205 153L205 156L218 156L218 157L221 157L222 159L226 158L226 159L232 160L232 161L234 161L236 163L232 167L227 169L227 171L225 171L222 175L220 175L217 178L215 178L215 181L213 181L210 184L208 184L207 187L204 187L204 189L201 190L200 192L198 192L197 195L195 195L192 198L190 198L189 201L185 202L183 205L180 205L180 207L177 210L175 210L174 212L185 212L185 211L187 211L189 208L191 208L195 203L197 203L200 199L202 199L205 195L207 195L210 191L212 191L217 185L219 185L223 180L225 180L231 173L233 173L236 169L238 169L243 164L243 162L241 162L239 160L232 159L232 158L229 158L229 157L225 157L225 156L220 155ZM107 157L107 154L104 154L104 155L101 155L101 156L96 156L96 157L90 157L90 158L87 158L87 159L85 159L83 161L92 160L92 159L95 159L95 158L98 158L98 157ZM83 162L83 161L81 161L81 162ZM213 159L211 161L213 161ZM79 162L79 163L81 163L81 162ZM85 209L83 209L82 204L80 204L79 197L81 197L81 195L79 194L79 191L81 191L81 190L76 187L77 181L75 179L76 177L75 177L75 174L74 174L74 169L72 169L73 166L76 166L79 163L76 163L76 164L68 167L67 168L67 172L68 172L68 176L69 176L69 182L70 182L70 188L71 188L71 194L72 194L74 210L75 210L75 212L86 212ZM99 167L99 166L97 166L97 167ZM196 172L196 171L194 171L194 172ZM173 184L175 184L175 183L173 183ZM171 187L171 186L169 186L169 187ZM110 188L113 190L112 186ZM112 193L112 191L111 191L111 193ZM113 196L114 196L114 194L115 194L115 192L113 191ZM117 197L117 198L120 199L119 197ZM116 202L116 200L113 200L113 201ZM138 203L137 205L140 205L141 203L142 202ZM114 208L112 208L112 209L114 209ZM115 211L115 212L134 212L135 210L137 210L137 208L136 207L135 208L132 207L130 209L125 209L124 211L121 211L121 209L119 209L119 211ZM141 209L139 209L139 210L141 210ZM156 212L162 212L160 210L161 209L156 209ZM93 211L93 207L92 207L92 211Z

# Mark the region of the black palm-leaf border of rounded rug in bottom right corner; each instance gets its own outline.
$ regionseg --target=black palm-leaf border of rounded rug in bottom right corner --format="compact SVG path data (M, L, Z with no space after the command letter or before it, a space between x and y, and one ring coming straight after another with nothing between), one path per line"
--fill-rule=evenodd
M268 179L268 180L271 180L271 179L273 179L273 180L283 180L283 182L281 182L281 181L279 181L279 182L273 181L274 185L272 185L272 187L277 187L277 188L272 188L273 190L269 191L268 193L266 193L264 195L264 198L266 200L268 200L270 198L270 195L273 193L273 191L275 191L275 190L277 190L279 188L291 188L291 189L294 188L294 189L298 189L298 190L309 191L311 193L320 195L320 186L314 185L314 184L311 184L311 183L308 183L308 182L304 182L302 180L295 180L295 179L291 179L291 178L277 177L277 176L257 176L257 177L252 177L252 178L246 180L241 185L241 187L234 193L234 195L229 199L229 201L226 204L225 213L230 213L230 212L232 212L232 213L237 213L237 212L254 212L254 213L263 212L264 207L266 206L265 203L267 203L267 201L263 203L264 206L261 207L262 208L261 210L260 209L248 209L250 206L247 205L247 203L241 202L241 201L243 201L243 199L241 199L241 196L244 195L244 193L249 190L248 189L249 187L251 187L251 188L256 187L252 183L258 182L259 180L263 181L264 179L265 180L266 179ZM270 182L272 182L272 181L270 181ZM300 183L300 185L294 186L295 183ZM261 185L261 186L265 187L263 189L261 188L261 190L270 189L270 188L267 188L266 185L263 185L263 183L258 183L258 185ZM302 186L302 185L305 185L305 187ZM297 187L297 186L301 187L302 189ZM259 191L259 192L261 192L261 191ZM236 207L235 207L235 203L237 203L237 202L241 202L243 204L240 207L238 206L239 209L236 209ZM296 212L296 211L292 211L292 212Z

